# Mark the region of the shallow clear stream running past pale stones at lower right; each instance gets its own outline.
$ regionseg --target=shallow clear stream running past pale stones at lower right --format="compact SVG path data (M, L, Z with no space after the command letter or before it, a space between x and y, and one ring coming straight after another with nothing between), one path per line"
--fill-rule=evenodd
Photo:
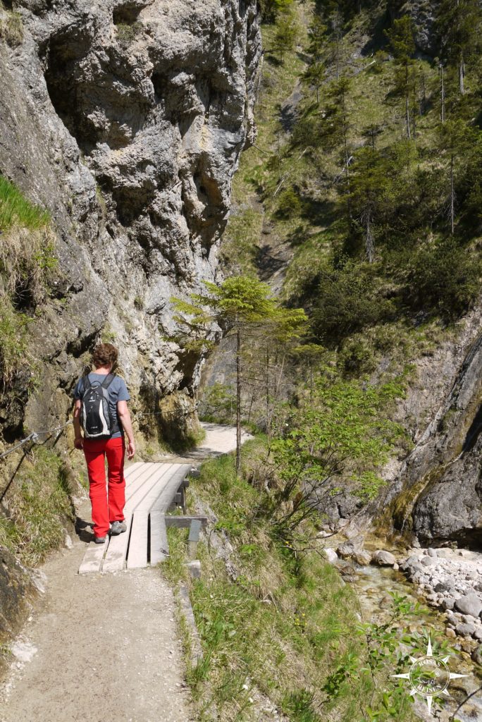
M335 542L335 537L331 537L327 547L328 545L336 549L338 541ZM365 547L372 547L372 544L366 544ZM389 549L386 544L381 547L380 541L378 545L373 544L373 549L375 548ZM339 563L343 567L348 562L340 561ZM411 631L421 633L424 627L431 626L438 632L437 636L439 638L445 638L446 624L443 614L426 606L424 599L418 595L416 586L409 582L402 572L394 570L392 567L359 566L353 560L350 560L349 563L356 570L356 581L347 581L346 583L351 584L357 593L364 622L383 623L390 612L389 599L387 599L388 593L397 592L406 596L413 604L419 602L424 606L424 612L418 619L412 618L408 620L407 626ZM472 661L470 654L460 648L460 639L450 639L449 642L450 646L455 648L456 651L456 655L452 656L448 661L450 672L467 674L468 677L452 679L447 689L450 697L435 697L431 714L428 711L424 697L416 695L416 714L427 722L431 720L449 722L458 705L478 687L482 686L482 669ZM414 649L411 654L419 658L426 654L426 649ZM408 672L409 668L406 671ZM406 684L409 690L410 682L407 680ZM460 720L460 722L482 722L482 690L471 697L463 708L457 712L455 720Z

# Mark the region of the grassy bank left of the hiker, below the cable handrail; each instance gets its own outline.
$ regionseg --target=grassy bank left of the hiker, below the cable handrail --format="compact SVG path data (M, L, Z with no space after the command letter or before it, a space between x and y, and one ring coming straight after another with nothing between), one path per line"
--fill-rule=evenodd
M0 546L23 563L38 565L52 549L61 547L64 529L74 521L74 507L69 469L58 453L34 448L9 483L2 507Z

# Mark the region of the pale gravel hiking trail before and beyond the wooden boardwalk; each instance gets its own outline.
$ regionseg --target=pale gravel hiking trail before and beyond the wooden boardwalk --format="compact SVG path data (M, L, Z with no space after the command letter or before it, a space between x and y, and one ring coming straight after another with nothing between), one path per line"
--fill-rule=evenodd
M234 447L234 429L206 425L203 448L185 460ZM42 567L46 591L14 644L0 722L193 720L175 599L162 571L78 575L90 538L89 502L77 513L84 530Z

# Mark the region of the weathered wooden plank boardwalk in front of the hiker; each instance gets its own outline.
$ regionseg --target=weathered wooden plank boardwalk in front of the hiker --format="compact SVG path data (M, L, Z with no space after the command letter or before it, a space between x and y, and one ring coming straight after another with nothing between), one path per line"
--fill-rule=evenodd
M165 513L190 469L192 464L137 462L128 466L124 507L127 531L107 537L105 544L90 542L79 574L117 572L162 561L167 554Z

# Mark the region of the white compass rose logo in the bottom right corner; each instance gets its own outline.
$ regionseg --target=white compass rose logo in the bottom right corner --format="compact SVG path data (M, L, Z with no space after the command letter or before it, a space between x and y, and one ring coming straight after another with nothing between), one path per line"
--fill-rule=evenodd
M427 644L426 654L418 659L410 657L412 666L410 671L404 674L390 674L390 677L399 677L400 679L408 679L411 684L412 695L421 695L426 697L426 704L431 710L431 703L434 697L444 695L450 697L447 687L451 679L459 677L468 677L468 674L455 674L451 672L447 666L447 657L439 657L431 651L431 640Z

